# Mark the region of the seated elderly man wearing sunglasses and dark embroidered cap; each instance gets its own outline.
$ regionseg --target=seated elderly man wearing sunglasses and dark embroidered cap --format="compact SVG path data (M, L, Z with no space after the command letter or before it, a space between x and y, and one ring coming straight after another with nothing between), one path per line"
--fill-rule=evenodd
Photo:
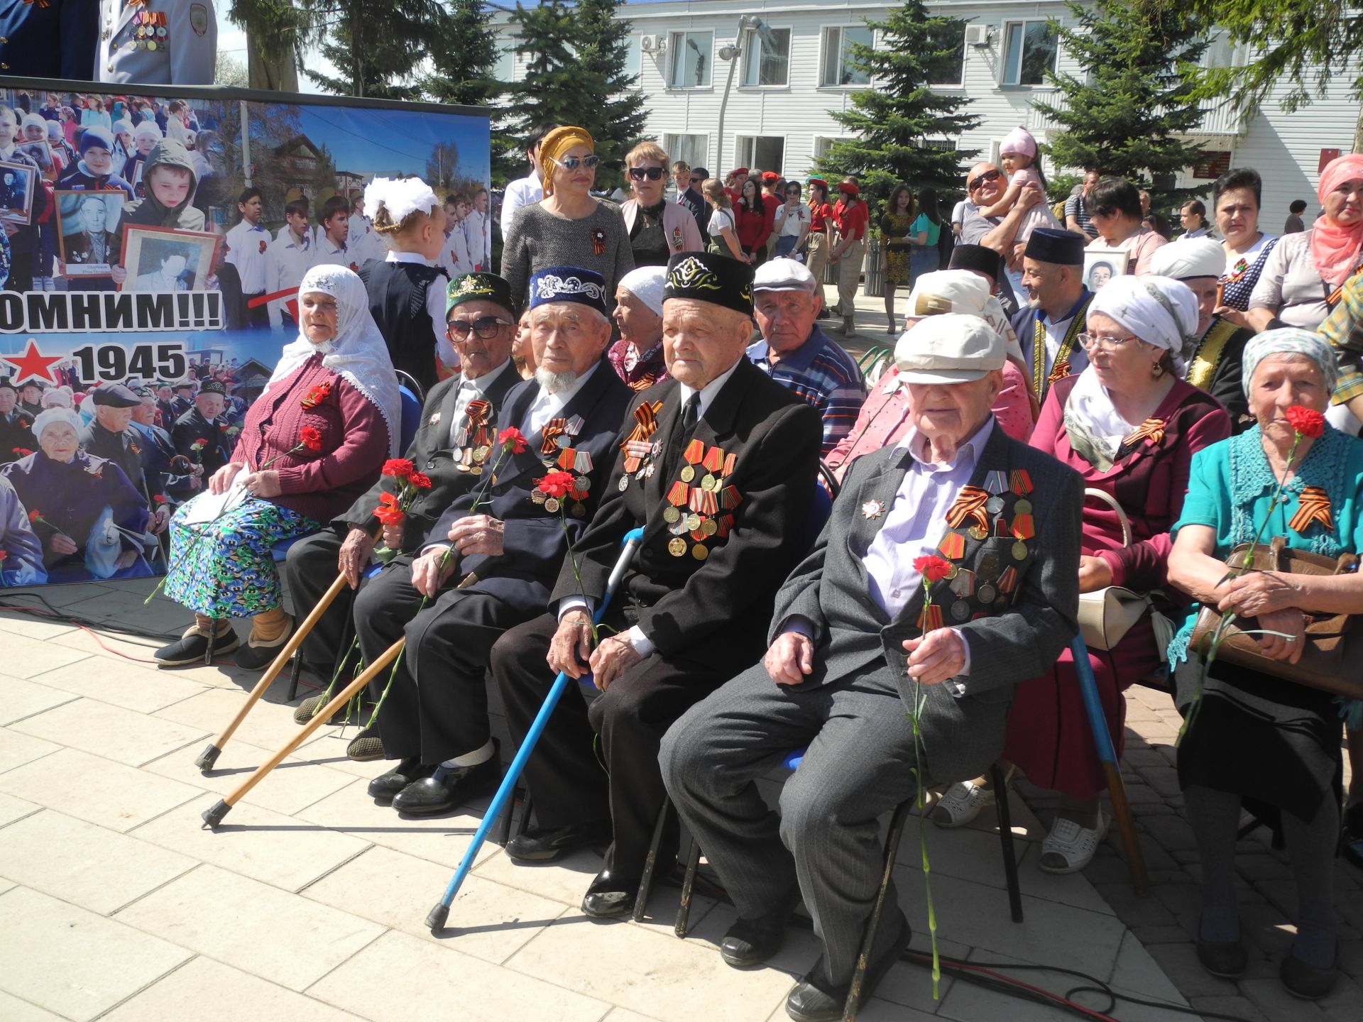
M444 316L446 332L459 354L459 375L431 388L421 409L421 425L402 455L431 480L431 488L417 493L403 522L383 530L384 545L410 555L425 545L440 515L483 481L473 452L491 446L506 397L521 383L511 364L517 304L504 279L483 273L457 277L446 289ZM372 560L379 527L373 511L382 495L397 491L393 476L380 476L330 529L289 548L284 575L294 616L301 619L316 606L337 571L343 571L350 583L303 640L303 661L316 673L330 676L354 593ZM319 698L305 699L297 717L308 719L318 702Z

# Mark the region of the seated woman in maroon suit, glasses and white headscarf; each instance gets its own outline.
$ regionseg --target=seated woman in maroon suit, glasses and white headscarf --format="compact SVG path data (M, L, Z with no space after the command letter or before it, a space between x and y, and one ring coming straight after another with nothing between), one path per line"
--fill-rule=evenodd
M1216 398L1180 379L1179 352L1197 323L1197 298L1182 282L1114 278L1093 298L1088 332L1078 338L1089 367L1059 380L1041 407L1032 446L1075 469L1088 491L1101 491L1122 508L1119 515L1103 497L1085 500L1081 593L1105 586L1148 593L1164 586L1169 527L1183 508L1193 455L1231 435L1229 416ZM1129 546L1122 518L1131 527ZM1156 597L1157 608L1163 598ZM1122 691L1161 669L1160 650L1149 612L1111 650L1089 650L1118 755ZM1082 869L1107 819L1099 805L1103 767L1069 650L1048 673L1018 687L1005 759L1036 786L1060 793L1055 823L1041 842L1041 869ZM953 785L934 808L934 819L961 826L992 799L983 781Z

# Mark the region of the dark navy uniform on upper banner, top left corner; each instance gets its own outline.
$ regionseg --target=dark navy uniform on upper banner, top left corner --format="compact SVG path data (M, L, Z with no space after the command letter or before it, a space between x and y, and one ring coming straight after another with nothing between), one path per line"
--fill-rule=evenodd
M90 79L99 0L0 0L0 75Z

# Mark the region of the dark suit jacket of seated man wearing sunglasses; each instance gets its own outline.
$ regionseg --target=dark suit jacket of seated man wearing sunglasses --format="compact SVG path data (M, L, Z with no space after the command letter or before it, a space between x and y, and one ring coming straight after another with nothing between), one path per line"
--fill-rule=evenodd
M521 375L511 360L488 382L484 398L492 405L492 417L500 414L507 394L521 383ZM408 521L402 530L402 551L410 553L425 545L431 527L440 515L472 489L477 489L481 477L455 467L454 451L450 450L450 425L454 421L454 401L459 392L459 377L442 380L427 395L421 407L421 425L412 444L402 455L431 477L431 489L421 492L408 508ZM371 534L379 526L373 508L379 506L380 493L397 493L391 476L379 476L372 486L337 518L331 525L346 530L352 525L363 526Z

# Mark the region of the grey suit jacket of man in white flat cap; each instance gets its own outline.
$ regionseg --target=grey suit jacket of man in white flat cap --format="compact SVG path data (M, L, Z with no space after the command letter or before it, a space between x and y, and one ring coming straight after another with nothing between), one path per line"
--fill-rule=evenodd
M870 598L863 557L887 515L868 518L861 512L872 500L891 506L908 462L909 454L895 447L859 458L814 551L777 593L769 642L795 615L814 625L814 673L804 685L859 676L897 688L905 706L913 706L913 680L906 675L908 654L901 643L920 634L923 589L893 619ZM921 687L927 696L923 745L934 784L964 781L988 769L1003 748L1014 687L1048 670L1078 631L1084 482L1074 470L1010 439L995 424L970 485L984 486L990 471L1018 469L1030 477L1033 489L1026 497L1033 504L1036 536L1021 560L1014 557L1011 534L965 538L957 564L976 572L976 593L985 583L1000 591L987 605L970 598L970 620L945 620L961 631L970 649L970 673L958 679L964 692ZM1011 521L1011 504L1020 496L1005 495L1002 518ZM1014 583L998 585L1010 567L1015 568ZM951 585L946 579L934 585L935 604L949 608L958 600ZM1005 589L1010 591L1005 594Z

